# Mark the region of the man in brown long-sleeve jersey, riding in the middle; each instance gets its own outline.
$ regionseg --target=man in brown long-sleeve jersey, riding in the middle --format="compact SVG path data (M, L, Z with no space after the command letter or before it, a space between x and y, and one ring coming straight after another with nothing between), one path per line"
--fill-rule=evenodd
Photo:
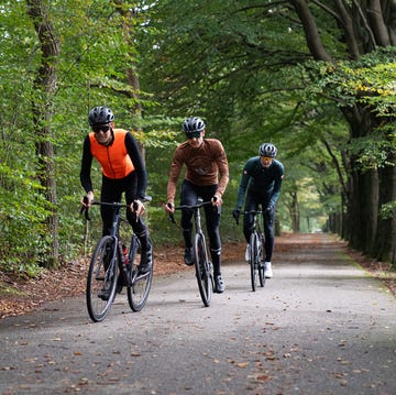
M220 240L220 207L222 195L229 182L229 167L226 151L219 140L205 139L205 123L198 117L189 117L183 122L187 141L175 150L167 184L167 204L165 210L174 212L176 185L183 165L186 174L182 184L180 205L195 205L198 197L205 201L211 200L212 206L205 206L206 227L210 243L210 256L213 263L215 292L226 289L221 277L221 240ZM219 179L220 174L220 179ZM194 265L191 232L193 211L182 211L182 228L185 241L185 263Z

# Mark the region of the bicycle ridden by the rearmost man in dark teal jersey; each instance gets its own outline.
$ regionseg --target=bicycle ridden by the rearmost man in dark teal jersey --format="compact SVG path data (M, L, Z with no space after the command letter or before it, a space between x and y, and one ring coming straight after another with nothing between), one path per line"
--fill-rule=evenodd
M251 228L251 237L249 241L249 264L251 268L251 284L252 290L256 290L257 277L260 279L261 287L265 285L264 275L264 234L260 229L257 217L262 213L261 210L244 211L244 216L253 216L253 224ZM237 224L239 221L237 220Z

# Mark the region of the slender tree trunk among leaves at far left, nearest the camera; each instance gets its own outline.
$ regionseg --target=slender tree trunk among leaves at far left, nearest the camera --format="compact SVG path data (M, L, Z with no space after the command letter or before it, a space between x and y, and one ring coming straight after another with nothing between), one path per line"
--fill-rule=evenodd
M41 251L41 263L56 268L59 262L58 215L56 210L56 178L53 136L51 131L51 103L56 88L56 57L59 45L51 22L46 3L43 0L26 0L28 13L32 18L41 44L41 65L34 81L35 95L32 100L33 122L37 135L37 176L44 187L51 215L46 218L43 245L51 240L50 251ZM50 235L50 237L48 237Z

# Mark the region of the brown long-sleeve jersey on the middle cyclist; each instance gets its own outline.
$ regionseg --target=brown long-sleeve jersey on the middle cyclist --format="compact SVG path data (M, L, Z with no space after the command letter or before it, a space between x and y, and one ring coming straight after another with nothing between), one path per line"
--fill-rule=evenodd
M188 141L177 146L170 164L167 184L167 200L175 201L176 185L186 165L185 179L200 186L218 184L217 194L222 196L229 182L229 167L226 151L219 140L204 139L198 149L194 149ZM220 173L220 179L219 179Z

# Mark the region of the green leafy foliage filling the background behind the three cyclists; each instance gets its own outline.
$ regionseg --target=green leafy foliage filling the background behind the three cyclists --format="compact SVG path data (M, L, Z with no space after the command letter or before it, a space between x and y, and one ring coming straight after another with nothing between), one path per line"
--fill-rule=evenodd
M111 107L117 125L131 130L144 145L147 193L153 196L147 221L156 244L182 241L162 205L170 157L184 139L180 123L187 116L202 117L207 136L220 139L228 153L231 177L221 222L223 241L242 238L231 216L240 173L265 141L276 144L286 168L278 205L284 229L290 229L295 193L307 229L307 218L312 228L314 221L319 226L327 213L342 210L340 197L351 157L362 171L393 165L395 48L377 48L350 61L340 25L327 12L332 4L320 8L309 2L320 40L337 59L331 64L310 61L300 21L287 2L54 0L46 4L61 41L48 123L55 147L55 208L43 198L36 174L38 135L31 106L36 99L38 40L24 1L0 6L2 270L35 273L52 241L44 220L53 209L59 218L63 260L84 250L87 228L78 216L84 194L79 166L89 131L87 113L94 106ZM131 84L127 68L140 84ZM342 110L354 106L375 114L374 133L351 139ZM97 165L92 178L99 196ZM389 216L392 209L384 206L383 212ZM89 226L92 242L100 234L96 219Z

